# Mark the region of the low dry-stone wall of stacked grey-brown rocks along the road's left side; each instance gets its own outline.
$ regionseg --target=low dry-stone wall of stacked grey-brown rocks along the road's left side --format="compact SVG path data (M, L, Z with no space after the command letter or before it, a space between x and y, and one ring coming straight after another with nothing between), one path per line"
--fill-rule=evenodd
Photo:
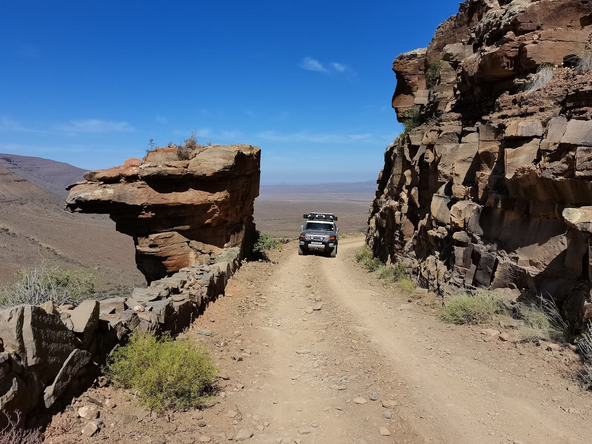
M183 268L129 297L0 310L0 410L26 415L71 399L134 330L181 333L223 294L239 258L239 247L228 249L212 265Z

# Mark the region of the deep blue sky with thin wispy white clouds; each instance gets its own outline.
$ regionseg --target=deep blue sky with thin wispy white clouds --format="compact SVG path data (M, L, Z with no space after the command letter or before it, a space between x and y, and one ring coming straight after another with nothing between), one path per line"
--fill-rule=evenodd
M86 169L149 139L262 149L262 184L375 179L401 131L392 59L458 0L0 5L0 152Z

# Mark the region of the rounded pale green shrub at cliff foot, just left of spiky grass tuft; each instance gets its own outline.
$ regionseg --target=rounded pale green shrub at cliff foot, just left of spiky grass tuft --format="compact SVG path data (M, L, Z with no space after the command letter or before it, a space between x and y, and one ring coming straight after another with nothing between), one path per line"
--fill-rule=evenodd
M506 306L496 294L478 291L475 295L463 293L451 297L440 318L447 324L482 324L506 312Z

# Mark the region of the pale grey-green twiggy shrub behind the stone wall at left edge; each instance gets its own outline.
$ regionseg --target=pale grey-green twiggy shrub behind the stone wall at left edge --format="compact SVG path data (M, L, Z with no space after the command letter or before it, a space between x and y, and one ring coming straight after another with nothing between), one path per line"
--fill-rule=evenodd
M0 289L0 307L19 304L40 305L53 301L56 305L77 303L92 295L94 276L88 272L64 270L41 263L34 269L22 269L17 281Z

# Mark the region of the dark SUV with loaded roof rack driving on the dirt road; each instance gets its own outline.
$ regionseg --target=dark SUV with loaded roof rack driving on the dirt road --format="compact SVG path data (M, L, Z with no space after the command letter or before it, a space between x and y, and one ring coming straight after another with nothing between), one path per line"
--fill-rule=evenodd
M334 258L337 255L339 229L335 226L336 215L327 213L304 214L308 219L300 226L298 254L306 255L311 252L323 252Z

